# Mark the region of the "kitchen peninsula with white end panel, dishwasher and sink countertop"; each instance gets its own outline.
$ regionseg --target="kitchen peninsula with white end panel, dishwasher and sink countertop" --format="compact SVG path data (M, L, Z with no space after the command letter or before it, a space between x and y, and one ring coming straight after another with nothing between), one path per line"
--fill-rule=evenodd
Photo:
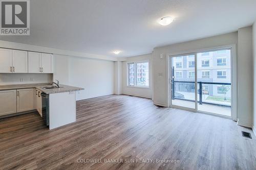
M41 116L49 129L76 122L75 91L83 90L83 88L67 85L59 85L59 88L48 87L51 86L36 86L35 88L41 96Z

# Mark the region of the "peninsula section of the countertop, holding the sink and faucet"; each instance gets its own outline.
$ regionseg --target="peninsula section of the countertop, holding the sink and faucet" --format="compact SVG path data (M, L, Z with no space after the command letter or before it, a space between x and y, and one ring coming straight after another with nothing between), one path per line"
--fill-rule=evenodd
M42 86L36 86L38 90L46 93L46 94L53 94L53 93L63 93L63 92L69 92L69 91L77 91L77 90L84 90L84 88L81 87L74 87L74 86L67 86L60 84L60 88L51 88L51 89L43 89Z

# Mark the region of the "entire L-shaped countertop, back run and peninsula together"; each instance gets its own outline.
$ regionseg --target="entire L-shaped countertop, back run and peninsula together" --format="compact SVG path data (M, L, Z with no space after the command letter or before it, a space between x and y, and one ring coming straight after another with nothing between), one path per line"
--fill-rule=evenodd
M50 86L50 85L51 84L49 84L49 83L2 85L2 86L0 86L0 90L37 88L38 90L40 90L40 91L42 91L46 94L84 90L84 88L67 86L67 85L62 85L62 84L59 85L61 88L53 88L53 89L43 89L43 88L41 88L43 86Z

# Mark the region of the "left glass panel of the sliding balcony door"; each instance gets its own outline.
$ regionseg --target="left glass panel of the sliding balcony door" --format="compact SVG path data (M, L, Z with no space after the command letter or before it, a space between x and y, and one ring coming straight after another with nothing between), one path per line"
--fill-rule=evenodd
M172 57L171 63L172 105L196 109L195 55Z

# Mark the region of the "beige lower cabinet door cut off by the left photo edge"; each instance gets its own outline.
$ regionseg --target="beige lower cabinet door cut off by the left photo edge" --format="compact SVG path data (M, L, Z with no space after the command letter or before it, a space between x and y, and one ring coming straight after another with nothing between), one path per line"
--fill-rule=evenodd
M16 90L0 91L0 116L16 113Z

